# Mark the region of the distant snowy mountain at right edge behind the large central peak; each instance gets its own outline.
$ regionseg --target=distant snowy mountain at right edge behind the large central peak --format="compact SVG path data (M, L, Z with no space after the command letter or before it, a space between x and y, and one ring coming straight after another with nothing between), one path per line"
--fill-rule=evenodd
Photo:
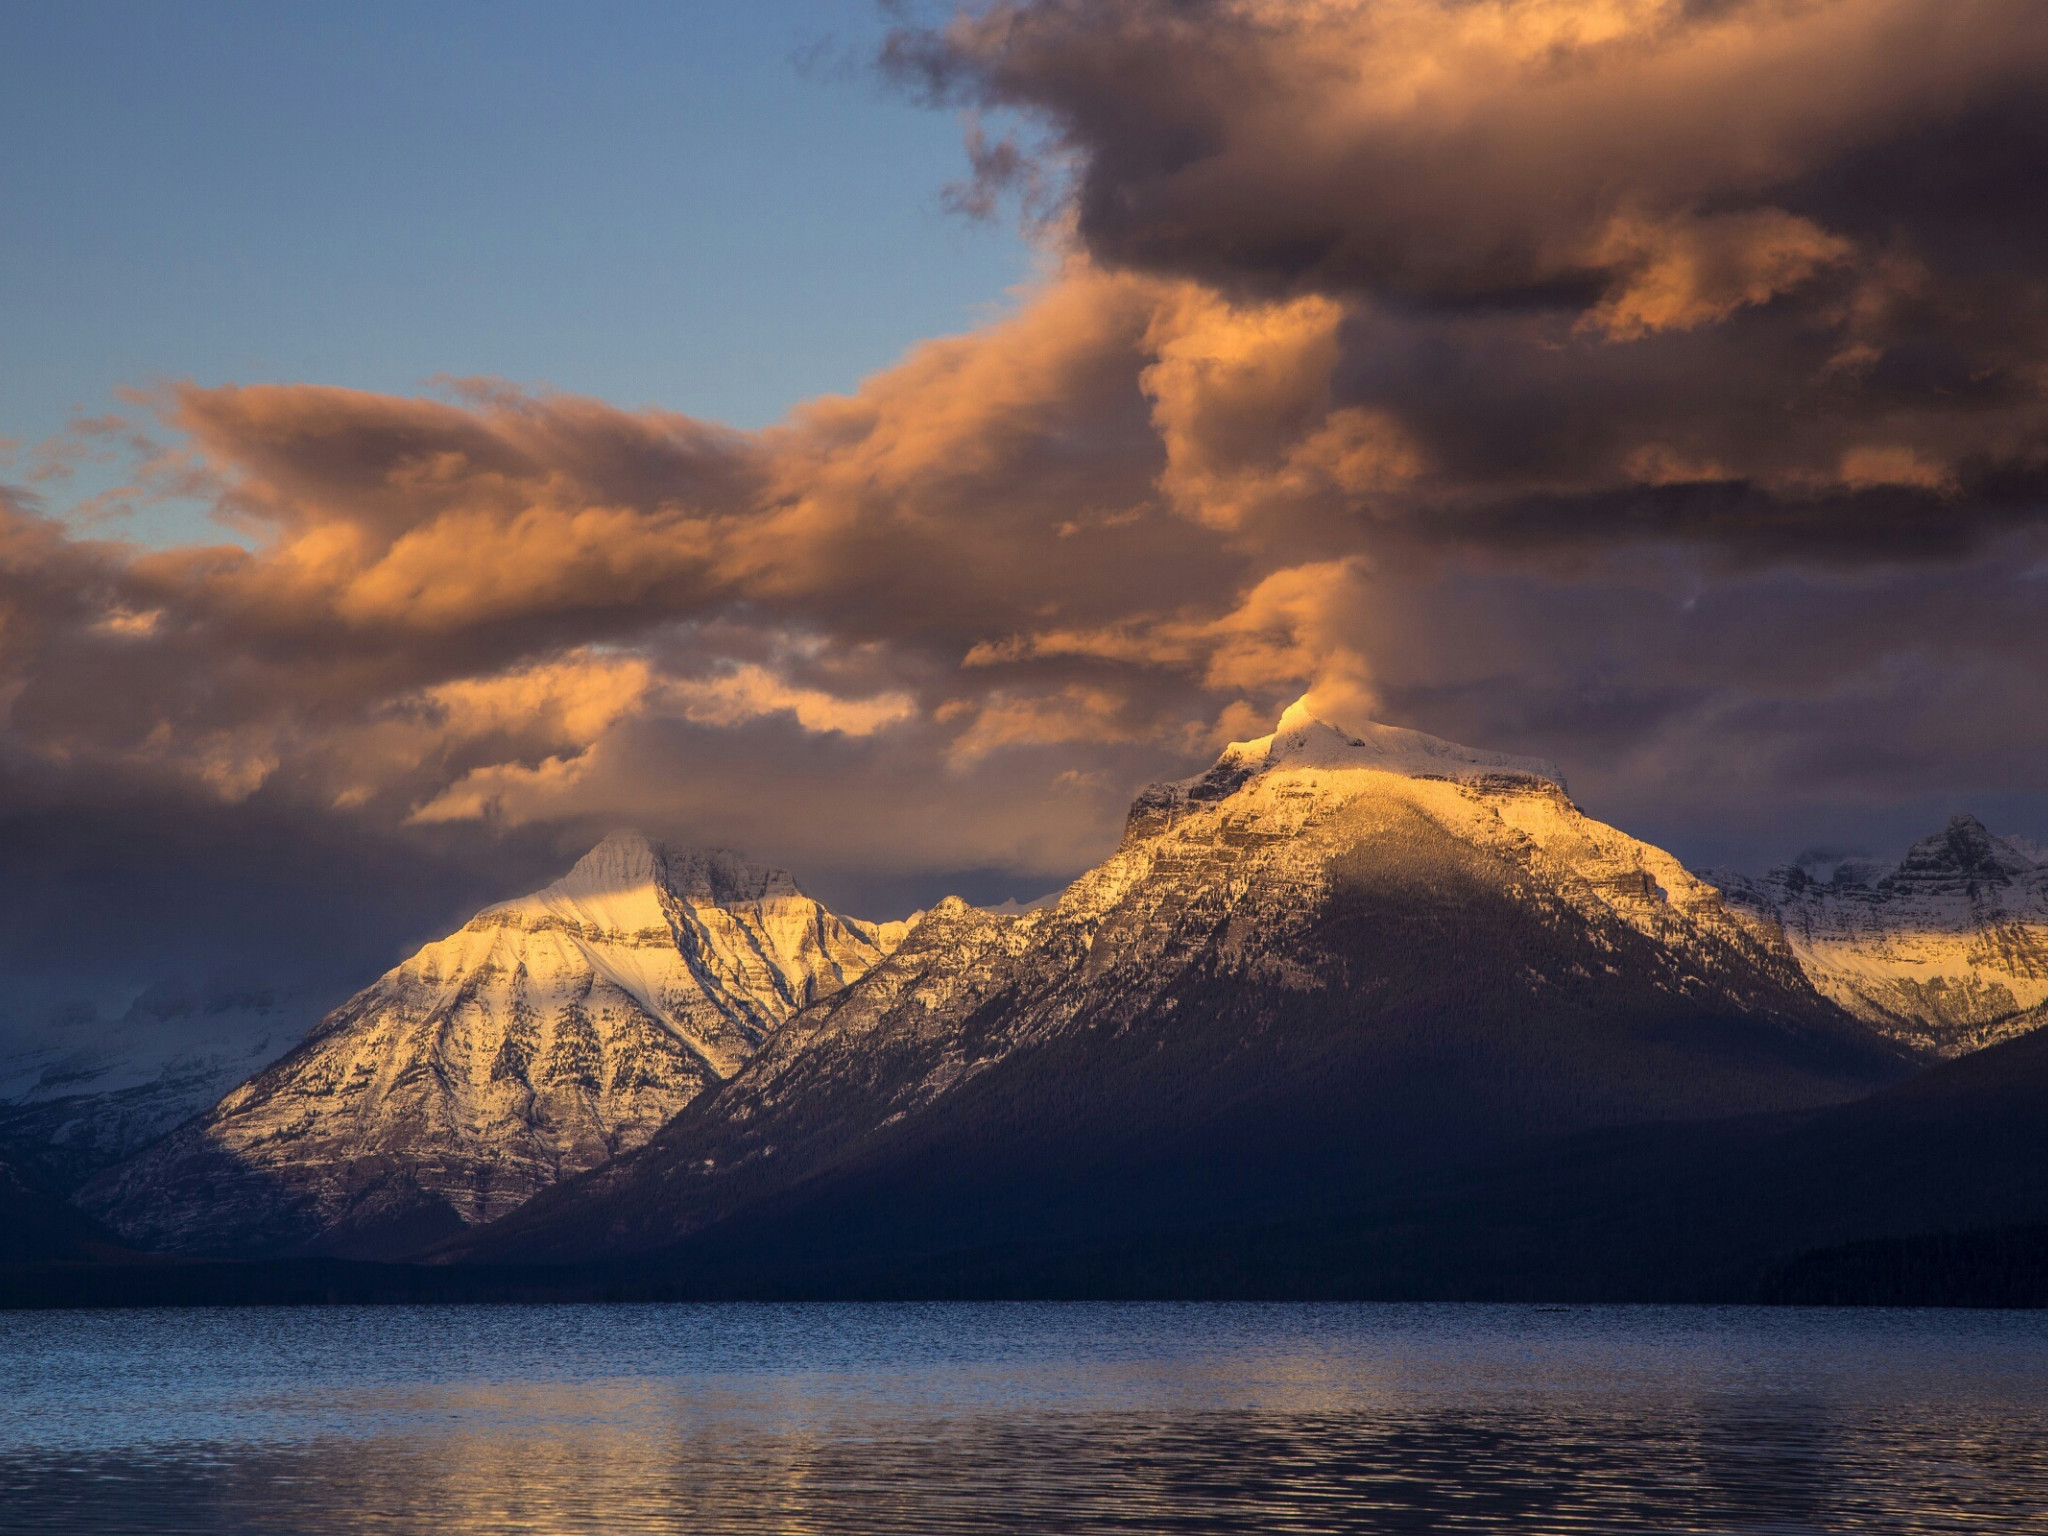
M1823 995L1905 1044L1954 1057L2048 1022L2048 854L1974 815L1894 868L1804 860L1708 879L1782 924Z

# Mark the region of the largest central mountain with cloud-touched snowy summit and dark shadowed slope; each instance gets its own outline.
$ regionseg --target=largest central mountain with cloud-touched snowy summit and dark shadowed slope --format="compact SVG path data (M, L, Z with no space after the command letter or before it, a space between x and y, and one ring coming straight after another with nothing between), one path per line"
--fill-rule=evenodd
M1055 905L942 903L645 1147L440 1253L1085 1245L1905 1071L1774 922L1585 817L1548 764L1296 705L1141 793Z

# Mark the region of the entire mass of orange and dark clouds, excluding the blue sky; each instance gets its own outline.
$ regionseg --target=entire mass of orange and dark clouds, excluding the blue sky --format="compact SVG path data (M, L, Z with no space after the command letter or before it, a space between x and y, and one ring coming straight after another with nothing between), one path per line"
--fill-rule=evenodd
M1313 690L1694 856L2048 807L2042 6L1012 0L883 63L1028 205L1010 315L752 434L172 387L236 543L0 504L18 793L1028 895Z

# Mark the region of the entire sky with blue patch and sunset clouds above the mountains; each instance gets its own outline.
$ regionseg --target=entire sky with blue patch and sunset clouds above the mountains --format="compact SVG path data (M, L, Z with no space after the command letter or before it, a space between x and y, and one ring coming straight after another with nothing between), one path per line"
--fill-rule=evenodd
M1300 694L2048 834L2036 0L0 16L20 999L616 825L1032 897Z

